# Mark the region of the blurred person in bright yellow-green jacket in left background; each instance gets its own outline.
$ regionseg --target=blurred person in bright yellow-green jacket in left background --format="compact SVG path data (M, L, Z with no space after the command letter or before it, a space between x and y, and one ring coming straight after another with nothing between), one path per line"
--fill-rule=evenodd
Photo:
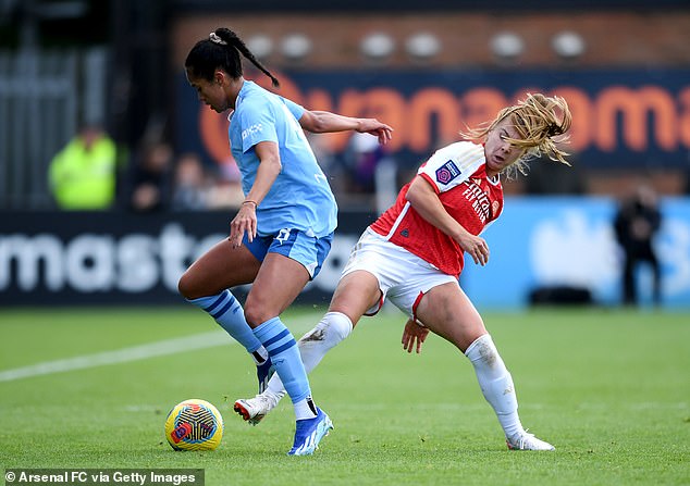
M63 210L104 210L115 196L118 151L97 125L85 125L51 160L51 192Z

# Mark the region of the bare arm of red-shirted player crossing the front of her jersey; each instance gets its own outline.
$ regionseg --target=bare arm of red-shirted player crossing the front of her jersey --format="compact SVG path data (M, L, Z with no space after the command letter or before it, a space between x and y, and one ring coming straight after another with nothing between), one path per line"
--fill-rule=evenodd
M412 179L406 196L407 200L429 224L441 229L453 238L460 248L475 260L475 263L485 265L489 261L489 245L480 237L472 235L455 221L445 210L439 195L431 184L423 177Z

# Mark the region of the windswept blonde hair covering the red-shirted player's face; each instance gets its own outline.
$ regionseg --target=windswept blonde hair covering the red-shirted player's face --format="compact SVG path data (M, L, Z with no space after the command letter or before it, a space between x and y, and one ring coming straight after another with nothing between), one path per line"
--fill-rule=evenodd
M508 178L517 175L517 172L526 175L529 169L527 162L535 157L546 155L553 161L570 165L566 160L569 153L556 145L568 140L565 134L572 124L572 115L564 98L527 94L526 99L501 110L493 122L488 122L479 128L470 128L461 135L472 140L484 140L489 133L506 119L513 122L520 136L506 140L525 149L525 153L513 165L506 167ZM560 135L564 136L554 140L554 137Z

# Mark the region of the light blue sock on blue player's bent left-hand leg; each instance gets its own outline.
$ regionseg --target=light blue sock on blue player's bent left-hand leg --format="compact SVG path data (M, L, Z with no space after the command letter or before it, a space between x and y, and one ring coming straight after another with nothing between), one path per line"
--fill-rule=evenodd
M188 302L201 308L215 320L220 326L237 340L248 352L254 352L261 347L261 342L251 332L251 327L245 321L242 306L230 290L223 290L217 296L200 297Z

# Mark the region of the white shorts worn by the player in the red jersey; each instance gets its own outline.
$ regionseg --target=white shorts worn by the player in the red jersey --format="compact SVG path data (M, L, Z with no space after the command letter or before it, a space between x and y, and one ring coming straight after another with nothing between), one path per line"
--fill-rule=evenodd
M424 294L447 283L459 286L453 275L441 272L431 263L392 244L371 228L365 230L353 248L341 278L358 270L377 277L382 294L379 303L369 309L366 315L379 312L387 296L396 308L419 322L417 306Z

